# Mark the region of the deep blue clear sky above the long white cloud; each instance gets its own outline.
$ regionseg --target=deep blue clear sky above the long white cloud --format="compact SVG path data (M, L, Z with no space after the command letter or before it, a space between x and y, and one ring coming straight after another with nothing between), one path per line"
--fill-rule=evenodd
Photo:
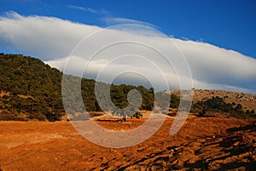
M168 36L203 41L256 58L255 1L1 0L0 14L46 15L93 26L140 20Z

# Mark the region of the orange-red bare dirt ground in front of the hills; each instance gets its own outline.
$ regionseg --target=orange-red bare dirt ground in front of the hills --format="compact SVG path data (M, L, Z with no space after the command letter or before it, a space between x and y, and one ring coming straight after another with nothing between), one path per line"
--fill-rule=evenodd
M255 170L255 120L189 117L170 136L172 121L166 118L150 139L122 149L91 143L68 122L0 122L0 170ZM100 124L131 129L142 123Z

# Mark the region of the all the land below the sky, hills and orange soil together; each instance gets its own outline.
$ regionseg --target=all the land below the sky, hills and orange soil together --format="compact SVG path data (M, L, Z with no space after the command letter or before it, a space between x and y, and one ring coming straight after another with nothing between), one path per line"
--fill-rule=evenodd
M177 134L170 136L174 118L166 117L165 123L148 140L113 149L93 144L79 134L71 122L17 122L57 121L65 115L61 99L61 71L32 57L0 54L0 76L0 120L16 120L0 122L0 170L255 168L256 120L252 117L256 115L253 113L253 94L195 90L191 107L193 113ZM78 79L68 77L72 78L69 86L73 85L72 80ZM81 81L85 108L88 111L101 111L96 103L94 86L94 80L83 78ZM126 96L133 88L143 95L141 110L152 110L154 89L143 86L111 85L113 103L120 108L125 107ZM178 91L171 92L170 110L177 111L178 95ZM139 128L147 121L147 118L127 118L126 122L94 119L103 128L122 132Z

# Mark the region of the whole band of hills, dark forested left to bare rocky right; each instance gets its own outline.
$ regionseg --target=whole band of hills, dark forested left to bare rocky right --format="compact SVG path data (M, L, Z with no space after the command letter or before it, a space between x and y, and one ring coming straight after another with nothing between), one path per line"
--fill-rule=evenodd
M65 116L61 98L61 71L29 56L2 53L0 75L0 120L58 121ZM73 86L73 80L79 79L67 77L71 78L68 83L70 87ZM153 88L111 84L110 89L113 104L119 108L128 105L127 94L131 89L137 89L143 96L140 110L150 111L154 107ZM101 111L94 91L95 81L83 78L81 94L87 111ZM170 91L170 94L172 110L169 115L173 117L179 104L179 91ZM68 96L72 97L73 92ZM160 103L157 105L162 105L165 101ZM77 104L70 102L69 105ZM210 113L212 116L256 117L256 95L220 90L195 90L191 111L196 115Z

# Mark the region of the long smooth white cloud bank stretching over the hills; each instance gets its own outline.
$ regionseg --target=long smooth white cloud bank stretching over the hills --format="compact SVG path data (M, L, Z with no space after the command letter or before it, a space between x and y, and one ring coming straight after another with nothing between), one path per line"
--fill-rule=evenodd
M165 37L148 26L102 30L53 17L25 17L12 12L0 19L0 43L2 49L38 56L61 70L72 54L66 71L77 75L85 71L84 75L91 78L102 71L106 82L121 72L133 71L115 81L150 82L160 89L166 88L164 78L172 88L178 88L178 80L183 88L191 86L187 60L195 88L256 93L255 59L208 43ZM108 47L99 51L104 46Z

